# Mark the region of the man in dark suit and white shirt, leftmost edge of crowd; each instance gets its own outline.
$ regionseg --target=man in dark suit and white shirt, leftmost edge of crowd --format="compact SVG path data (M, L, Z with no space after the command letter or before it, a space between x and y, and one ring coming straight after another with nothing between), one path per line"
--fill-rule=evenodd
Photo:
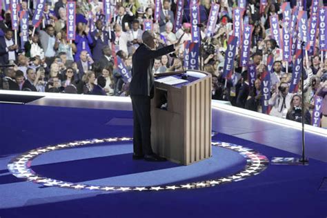
M16 61L18 45L14 43L14 32L6 29L4 37L0 37L0 64L8 64L9 61Z

